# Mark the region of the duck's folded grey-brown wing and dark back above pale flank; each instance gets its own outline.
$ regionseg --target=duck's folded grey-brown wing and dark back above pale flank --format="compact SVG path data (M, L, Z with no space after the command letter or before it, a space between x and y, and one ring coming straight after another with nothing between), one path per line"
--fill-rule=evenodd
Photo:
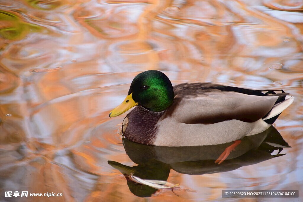
M165 116L185 124L212 124L226 120L255 122L266 116L288 93L264 94L213 83L174 86L175 98Z

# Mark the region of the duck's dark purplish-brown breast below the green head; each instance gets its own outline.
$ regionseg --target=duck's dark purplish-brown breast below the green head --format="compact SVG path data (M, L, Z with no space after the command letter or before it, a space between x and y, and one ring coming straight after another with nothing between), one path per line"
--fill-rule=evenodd
M153 144L157 123L165 111L154 112L144 107L135 107L123 120L122 132L125 138L141 144Z

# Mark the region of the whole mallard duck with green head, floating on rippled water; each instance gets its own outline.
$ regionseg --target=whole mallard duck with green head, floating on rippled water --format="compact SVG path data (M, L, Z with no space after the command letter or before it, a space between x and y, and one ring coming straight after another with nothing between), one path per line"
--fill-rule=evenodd
M109 117L136 106L122 123L122 133L130 141L158 146L235 141L232 151L241 138L268 129L293 102L283 90L263 91L215 83L172 86L164 73L149 70L133 79L125 100ZM221 159L227 154L222 155Z

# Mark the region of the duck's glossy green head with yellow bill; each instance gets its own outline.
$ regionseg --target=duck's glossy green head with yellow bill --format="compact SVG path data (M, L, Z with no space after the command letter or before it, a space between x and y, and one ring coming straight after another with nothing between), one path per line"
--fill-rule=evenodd
M171 82L165 74L156 70L144 71L134 78L127 97L109 113L109 117L119 116L136 105L150 111L163 111L172 104L174 97Z

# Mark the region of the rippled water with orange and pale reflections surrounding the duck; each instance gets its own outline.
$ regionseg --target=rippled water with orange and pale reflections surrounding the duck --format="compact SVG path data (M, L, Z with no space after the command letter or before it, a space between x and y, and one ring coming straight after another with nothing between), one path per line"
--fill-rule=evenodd
M3 195L15 190L63 193L56 201L142 200L107 163L134 166L120 144L123 117L108 113L148 69L173 84L295 96L275 123L292 146L287 155L226 173L172 170L179 197L165 192L151 201L221 201L222 189L303 190L301 1L2 0L0 10L0 200L14 201Z

